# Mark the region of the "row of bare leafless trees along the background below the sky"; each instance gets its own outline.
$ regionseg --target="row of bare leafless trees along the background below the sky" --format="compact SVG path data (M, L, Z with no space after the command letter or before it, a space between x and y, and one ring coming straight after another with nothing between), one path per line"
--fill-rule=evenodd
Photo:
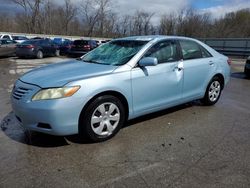
M0 13L0 31L121 37L128 35L184 35L204 37L250 37L250 9L230 12L212 19L208 13L183 9L162 15L136 11L121 15L113 10L112 0L11 0L22 8L16 14Z

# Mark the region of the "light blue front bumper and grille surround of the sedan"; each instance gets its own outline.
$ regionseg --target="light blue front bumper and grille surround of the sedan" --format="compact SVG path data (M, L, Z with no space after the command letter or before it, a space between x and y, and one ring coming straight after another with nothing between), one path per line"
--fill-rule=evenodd
M21 98L18 88L28 92ZM78 133L78 120L82 110L79 98L68 97L55 100L31 101L41 88L18 80L11 96L12 109L20 125L25 129L51 135L73 135ZM22 90L23 91L23 90ZM40 127L48 125L48 127Z

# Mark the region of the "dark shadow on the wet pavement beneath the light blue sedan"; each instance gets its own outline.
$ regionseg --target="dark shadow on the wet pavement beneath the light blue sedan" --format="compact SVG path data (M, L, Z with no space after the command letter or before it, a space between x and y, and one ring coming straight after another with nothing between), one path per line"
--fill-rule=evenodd
M199 101L193 101L173 108L168 108L166 110L144 115L139 118L128 121L122 128L128 128L137 123L141 123L150 119L155 119L167 114L174 113L179 110L190 108L192 106L200 105L201 103ZM7 116L3 118L3 120L1 120L0 128L2 132L10 139L22 144L32 145L36 147L62 147L70 145L71 143L94 144L94 142L91 142L88 139L80 138L78 135L52 136L39 132L25 130L18 124L13 112L10 112Z

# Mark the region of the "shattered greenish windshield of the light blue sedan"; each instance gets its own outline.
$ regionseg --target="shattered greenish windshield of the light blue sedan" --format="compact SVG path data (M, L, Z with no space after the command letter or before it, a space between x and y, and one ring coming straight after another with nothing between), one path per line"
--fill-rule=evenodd
M105 65L123 65L139 52L147 42L136 40L112 41L86 54L82 60Z

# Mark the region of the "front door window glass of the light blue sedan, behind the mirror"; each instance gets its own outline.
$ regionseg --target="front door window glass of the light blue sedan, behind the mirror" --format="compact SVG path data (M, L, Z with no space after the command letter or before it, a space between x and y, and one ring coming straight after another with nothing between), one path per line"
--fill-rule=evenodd
M177 61L177 45L173 41L159 42L151 47L144 57L155 57L158 63Z

